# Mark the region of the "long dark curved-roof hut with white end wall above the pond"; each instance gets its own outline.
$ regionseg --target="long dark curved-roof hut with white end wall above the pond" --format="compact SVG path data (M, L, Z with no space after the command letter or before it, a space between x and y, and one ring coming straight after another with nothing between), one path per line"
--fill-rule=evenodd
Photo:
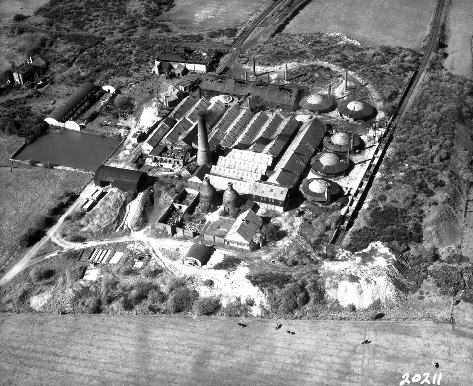
M60 122L67 121L100 90L94 83L82 83L64 102L52 110L45 118L46 123L57 126Z

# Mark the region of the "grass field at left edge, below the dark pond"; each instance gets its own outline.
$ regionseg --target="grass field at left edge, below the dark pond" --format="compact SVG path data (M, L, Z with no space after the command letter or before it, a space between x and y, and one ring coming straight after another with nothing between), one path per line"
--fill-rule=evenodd
M15 136L0 135L0 165L23 143ZM10 173L0 167L0 262L11 253L24 230L46 215L65 191L80 192L91 174L19 165Z

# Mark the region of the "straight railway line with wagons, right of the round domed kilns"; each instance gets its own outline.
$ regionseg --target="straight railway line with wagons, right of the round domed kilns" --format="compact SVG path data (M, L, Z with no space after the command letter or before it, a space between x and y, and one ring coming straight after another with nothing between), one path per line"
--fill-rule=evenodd
M367 184L366 188L363 190L363 193L359 197L359 201L357 204L357 207L359 209L355 209L354 212L352 212L349 216L349 219L342 218L341 221L339 222L337 229L335 230L331 240L330 244L338 245L340 246L342 242L344 241L345 237L347 236L347 233L349 232L349 229L353 226L354 218L356 218L359 210L363 206L363 201L367 196L368 189L373 183L374 175L377 172L377 169L379 169L379 165L381 164L384 155L386 154L386 150L391 142L391 139L393 138L393 133L396 129L396 123L400 121L404 113L407 111L407 107L409 106L410 99L414 93L414 91L417 89L417 86L419 85L420 80L423 77L424 72L427 69L427 66L429 64L430 56L434 50L434 48L437 47L438 45L438 34L439 34L439 29L442 24L442 10L444 8L444 3L445 0L438 0L437 1L437 6L435 9L435 16L434 16L434 21L432 24L432 29L430 31L430 36L429 40L427 43L427 47L425 49L425 53L423 55L423 58L421 60L421 63L419 64L419 67L417 68L416 71L414 71L413 75L411 76L411 79L404 90L404 93L401 96L401 99L399 100L398 106L391 116L388 124L386 125L386 132L384 133L383 136L383 141L384 141L384 146L382 148L382 151L380 153L379 157L379 163L375 166L372 172L372 177L371 180L369 181L370 183Z

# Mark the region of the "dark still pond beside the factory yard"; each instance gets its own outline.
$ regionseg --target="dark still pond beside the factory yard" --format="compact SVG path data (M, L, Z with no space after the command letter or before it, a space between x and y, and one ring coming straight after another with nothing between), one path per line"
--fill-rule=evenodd
M50 132L27 145L15 159L49 161L53 165L95 171L120 142L78 131Z

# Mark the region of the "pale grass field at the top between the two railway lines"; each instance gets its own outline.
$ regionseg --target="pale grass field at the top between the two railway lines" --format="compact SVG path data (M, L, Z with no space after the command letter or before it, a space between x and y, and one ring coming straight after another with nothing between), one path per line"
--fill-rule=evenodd
M284 32L341 32L371 46L419 48L435 3L436 0L312 1Z

